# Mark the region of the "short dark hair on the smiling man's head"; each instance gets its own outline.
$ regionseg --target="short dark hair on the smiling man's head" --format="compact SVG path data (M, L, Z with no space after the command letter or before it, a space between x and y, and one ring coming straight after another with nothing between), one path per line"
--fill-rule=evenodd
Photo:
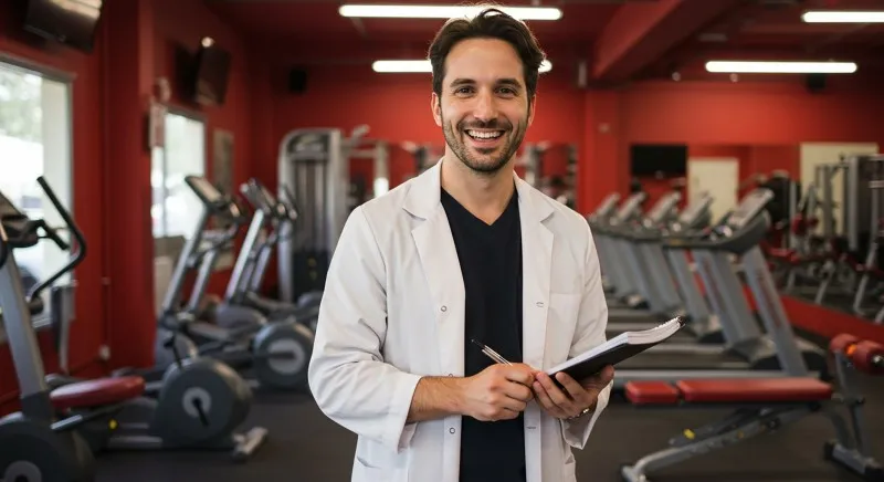
M528 25L496 8L487 8L473 19L451 19L435 34L429 57L433 67L433 92L436 95L442 95L445 57L454 45L469 39L499 39L513 45L522 59L528 97L534 96L537 92L538 69L546 54L540 50Z

